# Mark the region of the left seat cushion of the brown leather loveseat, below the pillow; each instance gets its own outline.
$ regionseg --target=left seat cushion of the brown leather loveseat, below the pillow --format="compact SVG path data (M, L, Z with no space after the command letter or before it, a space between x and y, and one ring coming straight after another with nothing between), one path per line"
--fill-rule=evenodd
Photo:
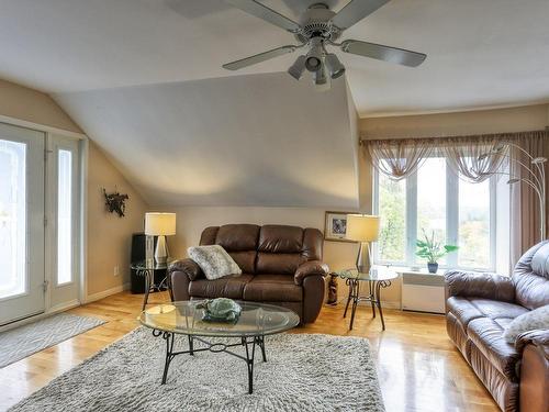
M253 275L227 276L216 280L197 279L189 283L189 294L193 298L243 299L244 287Z

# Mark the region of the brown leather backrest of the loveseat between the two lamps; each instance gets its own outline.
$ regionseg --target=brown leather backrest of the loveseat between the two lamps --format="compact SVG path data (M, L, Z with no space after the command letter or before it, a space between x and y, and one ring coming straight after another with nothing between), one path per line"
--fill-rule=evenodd
M206 227L201 245L220 245L245 274L293 275L307 260L322 259L322 232L317 229L255 224Z

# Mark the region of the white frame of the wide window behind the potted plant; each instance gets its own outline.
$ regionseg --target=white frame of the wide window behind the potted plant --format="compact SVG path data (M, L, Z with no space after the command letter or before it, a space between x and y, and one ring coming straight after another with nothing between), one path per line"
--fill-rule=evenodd
M444 156L432 156L444 157ZM422 167L422 166L419 166ZM373 214L379 215L379 200L380 200L380 171L377 167L372 167L372 200L373 200ZM416 259L416 240L417 240L417 171L403 179L405 183L406 193L406 212L405 212L405 260L381 260L379 258L378 243L373 245L373 261L378 265L392 265L402 267L417 267L422 263ZM459 243L459 176L449 167L448 159L446 159L446 243L456 245ZM462 270L475 271L495 271L496 267L496 190L497 179L492 176L489 179L490 187L490 258L488 267L468 267L458 265L458 253L449 254L447 264L440 265L441 269L455 268Z

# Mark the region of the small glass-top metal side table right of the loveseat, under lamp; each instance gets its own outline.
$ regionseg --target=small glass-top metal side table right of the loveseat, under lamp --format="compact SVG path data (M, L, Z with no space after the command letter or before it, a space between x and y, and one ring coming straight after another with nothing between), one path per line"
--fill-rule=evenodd
M347 304L345 305L344 318L347 316L349 303L352 302L349 331L352 329L355 322L355 313L359 302L370 302L372 305L372 314L376 318L376 307L378 307L381 318L381 327L385 330L385 321L383 320L383 310L381 309L381 288L389 288L391 280L399 277L394 270L386 266L373 266L368 274L358 271L357 269L343 270L339 274L341 279L345 279L346 285L349 287L349 296ZM360 296L360 282L368 283L368 294Z

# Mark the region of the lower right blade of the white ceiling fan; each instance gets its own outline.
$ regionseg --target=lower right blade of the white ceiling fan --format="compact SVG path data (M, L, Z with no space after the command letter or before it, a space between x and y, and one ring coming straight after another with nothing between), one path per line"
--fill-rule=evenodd
M361 42L358 40L346 40L341 43L341 51L408 67L417 67L427 58L427 55L423 53Z

